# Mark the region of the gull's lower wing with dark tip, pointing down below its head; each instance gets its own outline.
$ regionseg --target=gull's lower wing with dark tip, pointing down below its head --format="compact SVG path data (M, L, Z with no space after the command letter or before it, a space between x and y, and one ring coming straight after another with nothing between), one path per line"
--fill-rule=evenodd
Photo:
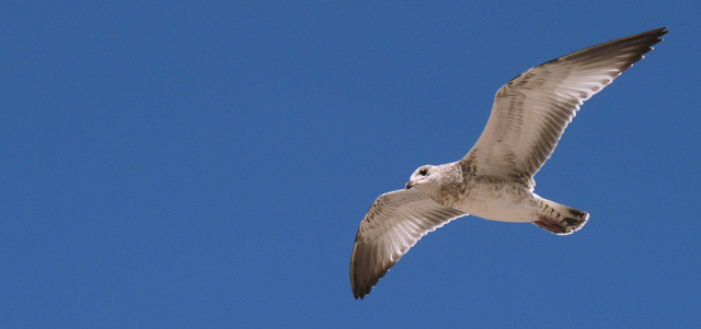
M456 218L467 215L441 205L417 188L384 193L360 223L350 258L350 286L365 297L380 278L418 239Z

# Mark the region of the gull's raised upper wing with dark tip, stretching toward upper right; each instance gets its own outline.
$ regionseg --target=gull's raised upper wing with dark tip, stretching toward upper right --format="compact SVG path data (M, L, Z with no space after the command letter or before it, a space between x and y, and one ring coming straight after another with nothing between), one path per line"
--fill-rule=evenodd
M585 48L514 78L496 93L486 127L462 161L473 162L479 175L532 189L579 106L652 50L665 28Z

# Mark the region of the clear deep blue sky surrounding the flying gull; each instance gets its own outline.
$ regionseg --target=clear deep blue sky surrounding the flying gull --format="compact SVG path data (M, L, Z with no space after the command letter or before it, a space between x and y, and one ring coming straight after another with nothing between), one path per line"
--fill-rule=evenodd
M701 4L0 4L2 327L699 327ZM356 230L464 155L530 67L669 26L536 192L571 236L464 218L365 301Z

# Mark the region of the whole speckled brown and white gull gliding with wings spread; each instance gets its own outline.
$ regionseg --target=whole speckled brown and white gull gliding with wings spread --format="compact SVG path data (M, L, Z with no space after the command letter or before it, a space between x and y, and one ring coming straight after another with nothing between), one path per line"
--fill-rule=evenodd
M380 196L360 222L350 286L364 298L418 239L472 214L572 234L589 214L533 192L533 176L584 101L643 59L666 27L588 47L537 66L503 85L482 134L460 161L424 165L404 189Z

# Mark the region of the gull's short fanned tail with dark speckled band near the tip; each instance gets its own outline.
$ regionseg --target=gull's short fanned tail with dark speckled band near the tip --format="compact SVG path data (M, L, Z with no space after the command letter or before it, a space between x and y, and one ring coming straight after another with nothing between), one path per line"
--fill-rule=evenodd
M538 208L539 211L533 224L558 235L572 234L582 228L589 220L589 214L582 210L542 198L538 200Z

